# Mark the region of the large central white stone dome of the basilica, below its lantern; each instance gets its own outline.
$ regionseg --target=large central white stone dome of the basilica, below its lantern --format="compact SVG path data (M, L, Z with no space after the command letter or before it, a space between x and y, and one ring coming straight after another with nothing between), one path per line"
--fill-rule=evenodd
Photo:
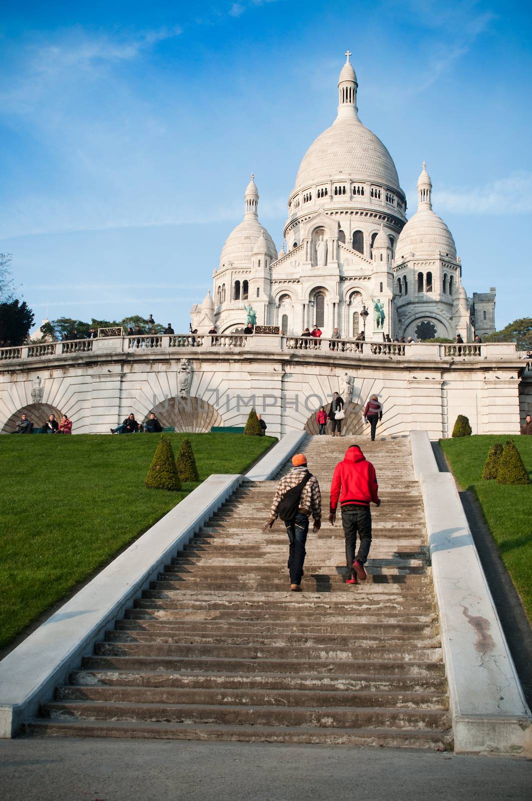
M300 163L293 191L341 175L385 184L402 193L391 155L357 117L336 119L314 140Z

